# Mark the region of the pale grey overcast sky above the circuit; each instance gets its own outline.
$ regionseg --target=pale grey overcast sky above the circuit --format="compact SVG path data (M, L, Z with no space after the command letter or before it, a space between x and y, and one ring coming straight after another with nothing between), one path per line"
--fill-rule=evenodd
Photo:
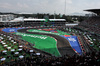
M64 14L65 0L0 0L0 12ZM100 0L66 0L66 14L99 9Z

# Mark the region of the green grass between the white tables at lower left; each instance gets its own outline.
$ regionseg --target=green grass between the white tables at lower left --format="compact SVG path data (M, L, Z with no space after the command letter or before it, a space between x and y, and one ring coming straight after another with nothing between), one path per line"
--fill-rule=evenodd
M15 45L10 41L8 40L7 37L3 37L4 39L2 40L4 43L6 43L7 47L11 47L11 49L15 49L15 52L18 52L18 44L16 43ZM7 52L6 53L2 53L3 50L6 50ZM23 55L25 54L24 57L29 57L30 55L28 53L26 53L25 51L21 51L19 52L18 56L15 57L15 54L12 54L10 50L7 50L7 48L5 48L2 43L0 43L0 57L4 57L6 58L6 62L9 62L11 61L12 59L15 60L15 59L18 59L20 55ZM8 56L10 58L8 58ZM1 61L0 61L1 62Z

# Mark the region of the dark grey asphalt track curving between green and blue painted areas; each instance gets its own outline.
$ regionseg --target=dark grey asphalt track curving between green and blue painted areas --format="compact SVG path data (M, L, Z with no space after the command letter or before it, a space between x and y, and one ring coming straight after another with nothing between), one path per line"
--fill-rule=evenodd
M75 54L75 52L72 49L72 47L70 46L68 40L66 40L65 38L58 36L58 35L54 35L54 34L28 32L27 30L30 30L30 29L35 29L35 28L19 29L18 32L28 33L28 34L47 35L47 36L53 37L57 40L57 48L58 48L58 51L60 52L61 56L64 56L67 54L68 56L71 57Z

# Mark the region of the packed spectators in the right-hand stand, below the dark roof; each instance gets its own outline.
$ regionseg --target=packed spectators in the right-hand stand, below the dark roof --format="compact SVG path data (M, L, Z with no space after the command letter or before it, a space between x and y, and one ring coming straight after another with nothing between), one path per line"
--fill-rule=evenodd
M89 17L87 20L80 23L77 27L100 34L100 16Z

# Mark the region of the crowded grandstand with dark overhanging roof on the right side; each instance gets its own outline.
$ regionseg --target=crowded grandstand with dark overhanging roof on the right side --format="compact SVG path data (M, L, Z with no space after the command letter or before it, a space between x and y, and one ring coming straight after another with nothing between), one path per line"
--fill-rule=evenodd
M99 35L100 34L100 9L90 9L85 11L93 12L97 15L89 17L87 20L81 22L77 27Z

